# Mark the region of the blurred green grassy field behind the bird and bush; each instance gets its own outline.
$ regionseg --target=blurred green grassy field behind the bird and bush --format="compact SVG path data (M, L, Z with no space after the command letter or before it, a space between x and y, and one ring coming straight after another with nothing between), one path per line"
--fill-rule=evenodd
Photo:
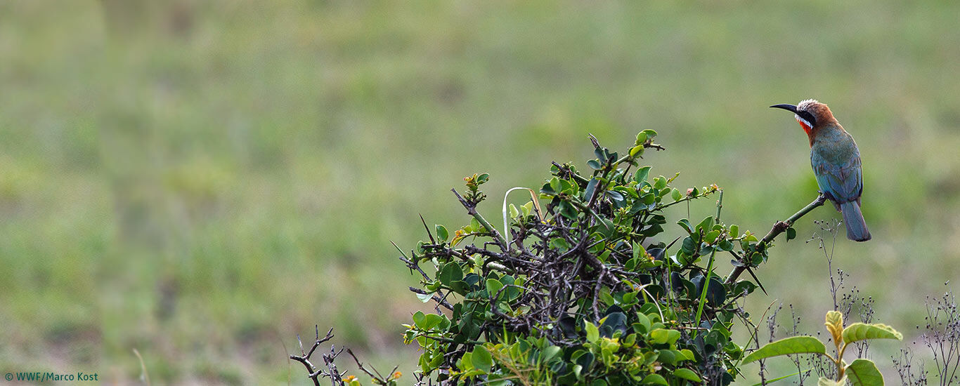
M905 345L924 297L960 283L958 14L955 1L4 2L0 370L136 383L136 349L154 384L305 384L285 357L315 324L412 369L399 324L422 305L389 241L413 246L419 214L464 224L449 192L464 175L492 174L481 211L499 218L502 193L540 186L551 160L583 165L588 133L625 148L653 128L668 148L647 156L655 173L718 184L725 220L764 233L816 192L804 133L767 108L806 98L863 156L874 239L838 241L834 264ZM835 216L817 209L778 245L758 271L770 296L748 310L793 304L822 329L828 269L803 239ZM881 368L898 348L877 345Z

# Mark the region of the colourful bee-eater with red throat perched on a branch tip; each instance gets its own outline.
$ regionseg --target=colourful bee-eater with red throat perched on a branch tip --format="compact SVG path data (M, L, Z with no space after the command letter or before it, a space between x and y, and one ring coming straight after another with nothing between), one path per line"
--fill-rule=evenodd
M860 210L863 193L863 170L860 150L847 130L833 118L827 104L804 100L797 105L774 104L793 112L794 118L810 140L810 165L820 192L843 214L847 238L866 241L871 238L867 222Z

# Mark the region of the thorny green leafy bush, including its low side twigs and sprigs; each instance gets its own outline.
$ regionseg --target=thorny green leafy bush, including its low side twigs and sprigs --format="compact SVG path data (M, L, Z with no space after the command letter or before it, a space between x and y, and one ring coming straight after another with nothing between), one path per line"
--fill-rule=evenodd
M591 136L595 158L587 161L587 172L554 163L539 193L508 191L525 189L531 199L508 206L504 197L506 234L477 212L490 175L468 176L467 189L453 191L468 224L451 234L423 221L428 239L409 254L397 247L400 260L422 279L411 291L437 311L417 312L404 325L404 342L421 349L414 375L420 384L728 385L742 377L743 363L779 354L826 355L815 338L795 337L745 358L748 347L758 347L756 325L737 304L762 289L753 269L767 260L773 240L782 233L796 238L790 226L823 205L824 196L756 238L721 220L723 191L716 185L677 188L677 174L655 176L651 167L639 166L645 151L663 149L653 142L656 135L640 132L623 156ZM666 208L707 196L717 197L711 216L667 218ZM665 238L664 226L678 227L682 236ZM726 278L716 274L714 262L730 258L733 271ZM739 280L743 272L754 281ZM843 330L842 321L831 326ZM753 338L733 342L734 329ZM853 375L876 370L862 360L846 366L845 348L837 346L839 378L847 369ZM324 362L332 363L335 353L324 355ZM316 384L316 375L339 376L312 367L308 354L292 357ZM377 384L394 385L399 377L360 369Z

